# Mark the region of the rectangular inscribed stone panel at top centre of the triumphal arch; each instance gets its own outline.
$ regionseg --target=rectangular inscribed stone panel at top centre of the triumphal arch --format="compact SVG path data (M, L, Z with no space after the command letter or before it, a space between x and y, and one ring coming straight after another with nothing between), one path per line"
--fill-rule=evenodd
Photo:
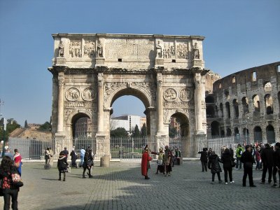
M154 50L154 42L149 39L106 39L106 58L144 57L149 58Z

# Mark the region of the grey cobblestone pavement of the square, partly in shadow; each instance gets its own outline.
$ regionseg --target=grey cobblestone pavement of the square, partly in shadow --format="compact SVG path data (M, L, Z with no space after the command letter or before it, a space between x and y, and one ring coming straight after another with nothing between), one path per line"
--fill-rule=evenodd
M19 209L279 209L280 188L260 185L260 171L253 171L257 187L244 188L243 170L234 170L235 183L219 184L216 178L211 185L211 173L201 172L199 161L184 161L167 177L155 175L153 162L149 180L141 176L139 162L111 162L108 168L98 164L92 179L82 179L82 169L72 168L64 182L57 181L56 168L25 162Z

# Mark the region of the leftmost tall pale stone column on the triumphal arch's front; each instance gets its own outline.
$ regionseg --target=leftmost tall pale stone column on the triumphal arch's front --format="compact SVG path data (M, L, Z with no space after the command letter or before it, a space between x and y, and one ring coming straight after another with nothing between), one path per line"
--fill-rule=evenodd
M64 72L58 75L57 133L63 132Z

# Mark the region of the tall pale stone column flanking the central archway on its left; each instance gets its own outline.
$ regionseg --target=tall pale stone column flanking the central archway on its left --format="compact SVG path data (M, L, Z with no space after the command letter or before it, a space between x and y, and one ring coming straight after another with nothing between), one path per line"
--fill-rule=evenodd
M104 111L103 111L103 73L98 73L98 112L97 112L97 132L104 132Z

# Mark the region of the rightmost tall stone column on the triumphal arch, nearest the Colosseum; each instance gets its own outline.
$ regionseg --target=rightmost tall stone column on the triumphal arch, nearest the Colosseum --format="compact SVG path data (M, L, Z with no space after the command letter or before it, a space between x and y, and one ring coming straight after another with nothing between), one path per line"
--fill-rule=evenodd
M195 71L195 122L196 122L196 134L204 134L202 127L202 77L200 70Z

